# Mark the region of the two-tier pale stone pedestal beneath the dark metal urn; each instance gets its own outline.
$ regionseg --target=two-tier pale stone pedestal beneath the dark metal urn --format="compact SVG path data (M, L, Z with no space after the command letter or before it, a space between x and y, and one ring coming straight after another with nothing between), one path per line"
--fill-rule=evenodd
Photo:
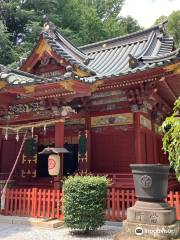
M170 240L180 237L175 209L165 202L137 201L127 209L127 220L115 240Z

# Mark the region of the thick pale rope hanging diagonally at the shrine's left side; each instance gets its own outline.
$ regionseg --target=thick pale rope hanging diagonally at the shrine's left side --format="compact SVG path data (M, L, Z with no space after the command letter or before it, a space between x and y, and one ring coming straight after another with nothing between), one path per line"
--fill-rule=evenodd
M19 153L18 153L18 155L17 155L17 157L16 157L16 161L15 161L15 163L14 163L14 166L13 166L13 168L12 168L10 174L9 174L9 177L8 177L8 179L7 179L6 183L5 183L2 191L1 191L1 210L2 210L2 209L5 209L6 188L7 188L7 185L8 185L8 183L9 183L11 177L12 177L12 174L13 174L13 172L14 172L14 169L15 169L16 165L17 165L17 162L18 162L18 160L19 160L19 157L20 157L20 155L21 155L21 152L22 152L22 149L23 149L25 140L26 140L26 135L27 135L27 131L26 131L25 134L24 134L23 141L22 141L22 143L21 143L21 147L20 147Z

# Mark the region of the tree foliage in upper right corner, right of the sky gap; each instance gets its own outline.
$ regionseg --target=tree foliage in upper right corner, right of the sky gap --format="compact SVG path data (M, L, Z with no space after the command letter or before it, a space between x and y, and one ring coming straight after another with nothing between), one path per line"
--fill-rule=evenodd
M160 16L156 19L155 24L160 24L163 21L168 20L167 23L167 33L174 38L176 47L180 47L180 11L172 12L168 17L167 16Z

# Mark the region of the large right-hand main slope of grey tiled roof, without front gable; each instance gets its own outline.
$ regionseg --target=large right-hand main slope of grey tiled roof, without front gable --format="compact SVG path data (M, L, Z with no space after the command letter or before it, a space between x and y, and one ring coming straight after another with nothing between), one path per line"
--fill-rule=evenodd
M164 32L163 25L81 47L91 59L89 67L95 77L86 81L126 75L161 66L179 55L173 51L173 38Z

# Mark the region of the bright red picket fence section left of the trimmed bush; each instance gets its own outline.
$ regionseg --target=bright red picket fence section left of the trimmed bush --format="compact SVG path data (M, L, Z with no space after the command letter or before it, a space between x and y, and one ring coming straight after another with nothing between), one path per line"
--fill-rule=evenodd
M52 189L7 189L5 215L63 219L64 196Z

